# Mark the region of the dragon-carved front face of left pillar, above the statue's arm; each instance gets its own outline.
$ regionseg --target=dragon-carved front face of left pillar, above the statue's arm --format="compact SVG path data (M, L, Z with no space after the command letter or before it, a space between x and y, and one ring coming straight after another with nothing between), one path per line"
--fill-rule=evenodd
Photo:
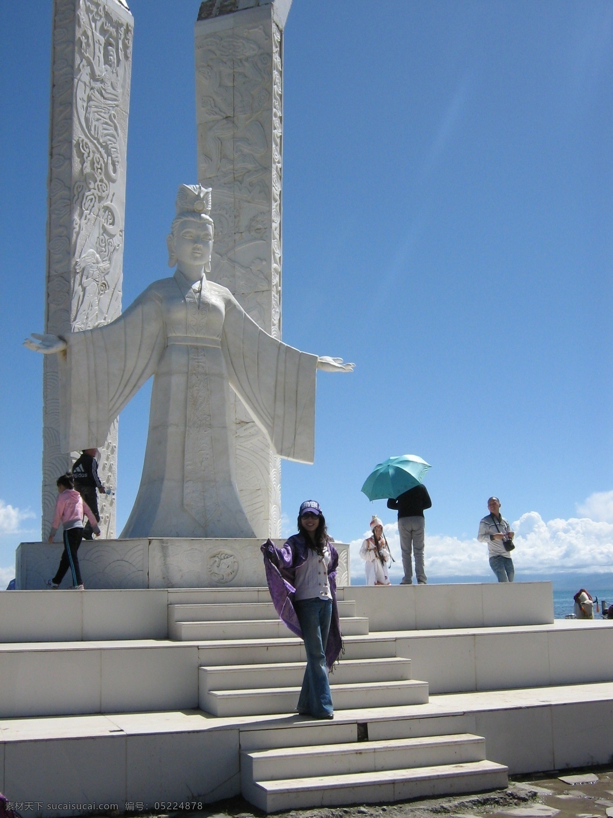
M124 100L132 29L96 0L83 0L75 37L73 330L121 312L123 188L127 113ZM119 184L118 184L119 182ZM122 203L118 206L117 203Z

